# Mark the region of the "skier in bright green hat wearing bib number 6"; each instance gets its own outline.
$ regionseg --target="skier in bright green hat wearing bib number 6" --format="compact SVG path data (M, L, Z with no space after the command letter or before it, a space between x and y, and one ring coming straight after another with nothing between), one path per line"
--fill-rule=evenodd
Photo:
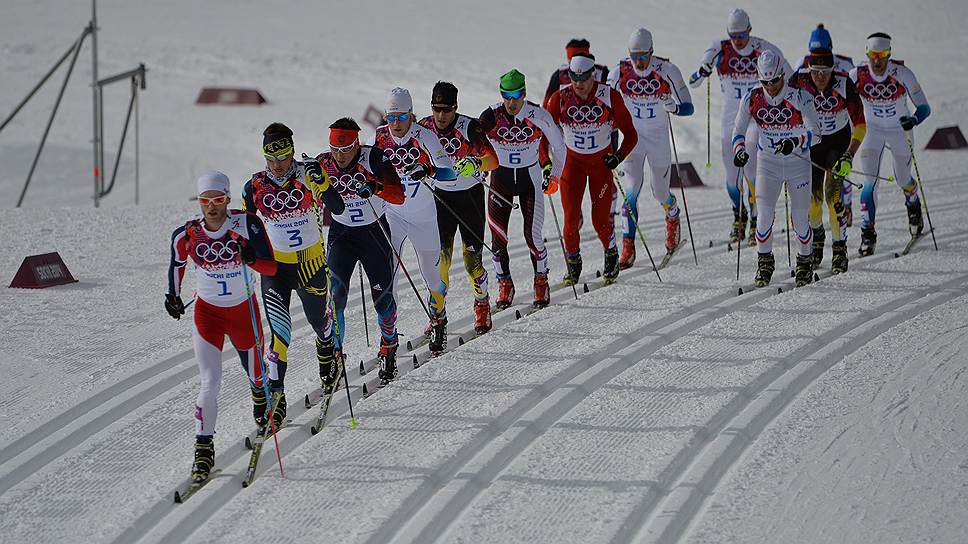
M514 302L514 281L508 255L508 223L511 205L518 197L524 219L524 240L531 250L534 268L534 306L551 302L548 288L548 251L545 249L544 194L558 191L565 165L565 142L551 114L526 100L524 74L512 69L501 76L501 102L485 109L481 126L494 145L500 166L491 174L491 195L487 200L487 222L494 249L494 270L498 280L496 307L505 309ZM551 157L543 152L547 141Z

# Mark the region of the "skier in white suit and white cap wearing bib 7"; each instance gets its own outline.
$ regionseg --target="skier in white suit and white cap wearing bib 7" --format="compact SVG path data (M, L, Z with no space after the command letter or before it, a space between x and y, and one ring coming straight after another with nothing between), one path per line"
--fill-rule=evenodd
M392 244L397 254L408 238L417 254L417 266L430 291L430 351L440 353L447 347L447 314L444 308L446 286L440 275L440 231L437 229L437 204L431 189L454 185L454 162L440 145L437 136L418 125L413 116L410 91L390 90L384 109L387 124L376 129L369 145L383 149L397 169L404 186L403 204L387 206ZM400 263L394 269L394 296L400 300L396 284Z

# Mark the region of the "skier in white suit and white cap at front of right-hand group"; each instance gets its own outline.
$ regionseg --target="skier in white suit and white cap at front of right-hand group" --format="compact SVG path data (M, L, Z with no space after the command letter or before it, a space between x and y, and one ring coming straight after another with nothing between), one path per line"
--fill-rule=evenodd
M737 168L749 162L746 133L752 120L759 127L755 147L761 155L756 165L756 224L758 245L754 283L770 283L775 268L773 223L776 201L786 184L790 194L790 216L800 242L797 255L797 287L810 283L813 267L810 242L813 238L807 220L810 208L810 147L820 142L820 126L813 97L786 84L783 59L764 51L756 61L760 87L746 94L736 114L733 131L734 161ZM796 157L791 156L797 155Z

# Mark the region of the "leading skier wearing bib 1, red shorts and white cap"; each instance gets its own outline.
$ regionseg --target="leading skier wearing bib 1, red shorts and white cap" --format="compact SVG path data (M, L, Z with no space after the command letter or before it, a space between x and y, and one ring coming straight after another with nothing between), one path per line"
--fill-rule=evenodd
M265 426L268 421L260 360L262 320L254 295L256 276L249 272L246 284L242 267L249 266L266 278L276 273L277 265L262 221L251 213L229 210L230 194L231 185L225 174L203 174L198 178L202 215L175 229L171 237L165 309L175 319L185 313L181 283L189 260L195 263L196 270L192 342L201 387L195 401L195 482L206 480L215 464L212 435L218 416L222 345L226 336L249 376L255 422Z

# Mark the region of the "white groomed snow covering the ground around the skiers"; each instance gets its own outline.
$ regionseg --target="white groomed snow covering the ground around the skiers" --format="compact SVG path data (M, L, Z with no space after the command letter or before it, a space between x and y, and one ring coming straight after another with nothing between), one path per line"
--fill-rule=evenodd
M746 8L754 32L791 58L818 20L836 50L855 58L867 34L889 32L934 109L918 139L938 126L968 127L963 3ZM52 0L4 6L3 111L63 53L88 9ZM0 214L4 277L23 256L56 250L80 279L0 290L0 348L8 354L0 369L9 377L0 384L2 540L964 541L965 152L918 152L940 251L926 239L911 256L892 258L907 229L897 187L883 184L878 253L852 254L845 275L792 290L784 233L776 233L774 283L787 291L779 295L771 288L736 296L752 277L752 251L743 248L738 283L719 188L687 194L700 267L686 246L659 283L640 246L619 283L594 289L602 254L586 225L589 293L575 300L555 291L551 308L518 321L510 310L497 314L494 331L460 347L471 295L455 267L451 349L416 370L401 357L403 376L362 400L360 386L375 373L361 377L351 366L356 429L343 396L316 436L308 431L315 408L292 408L315 386L312 365L299 363L311 360L312 333L294 307L287 390L299 414L280 433L286 477L267 447L259 478L239 485L251 410L238 360L226 353L216 435L222 472L188 503L171 503L191 464L198 384L190 324L168 318L161 299L169 233L194 213L187 198L200 170L224 169L238 187L260 167L256 146L268 122L286 121L300 150L315 151L332 119L379 106L396 85L410 86L419 105L433 82L451 79L462 109L476 113L497 100L497 75L517 66L540 97L573 34L612 64L644 24L657 52L688 72L728 10L695 0L674 9L542 0L380 10L305 0L100 2L102 77L140 61L150 70L141 103L141 194L150 205L131 206L128 148L108 208L90 207L85 49L27 208ZM194 106L198 89L212 84L256 86L270 104ZM111 123L119 133L127 92L115 91L108 162L117 138ZM0 133L0 187L11 194L55 92L45 90ZM719 185L715 139L714 167L701 168L705 100L694 99L697 114L675 121L679 153ZM658 206L643 199L641 209L656 252ZM520 232L517 218L509 232ZM562 259L550 218L545 234L557 278ZM852 252L858 238L855 226ZM512 270L526 304L530 264L520 236ZM403 293L399 326L414 338L425 317ZM350 361L375 352L355 302L351 296Z

